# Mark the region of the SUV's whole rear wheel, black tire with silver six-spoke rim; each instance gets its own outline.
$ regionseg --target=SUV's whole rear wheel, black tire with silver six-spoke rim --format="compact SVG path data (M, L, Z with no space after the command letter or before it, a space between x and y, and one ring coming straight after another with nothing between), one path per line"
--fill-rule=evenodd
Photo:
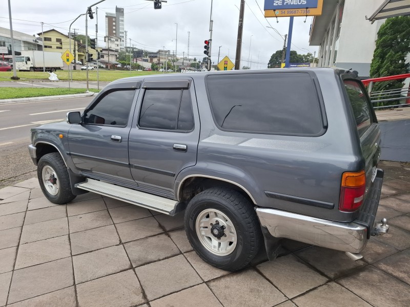
M261 243L252 204L229 188L197 194L185 211L185 229L192 248L204 261L228 271L248 265Z

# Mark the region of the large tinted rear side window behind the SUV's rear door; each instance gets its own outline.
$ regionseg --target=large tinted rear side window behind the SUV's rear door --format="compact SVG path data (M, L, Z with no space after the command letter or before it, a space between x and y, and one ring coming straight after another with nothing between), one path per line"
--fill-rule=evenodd
M215 123L245 133L319 136L324 128L308 73L207 77Z

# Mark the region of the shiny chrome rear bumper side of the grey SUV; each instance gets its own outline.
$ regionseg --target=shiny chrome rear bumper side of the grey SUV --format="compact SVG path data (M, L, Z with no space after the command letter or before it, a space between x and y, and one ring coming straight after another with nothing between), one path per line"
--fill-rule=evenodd
M267 208L257 208L260 225L277 238L288 238L343 252L359 253L367 243L367 227Z

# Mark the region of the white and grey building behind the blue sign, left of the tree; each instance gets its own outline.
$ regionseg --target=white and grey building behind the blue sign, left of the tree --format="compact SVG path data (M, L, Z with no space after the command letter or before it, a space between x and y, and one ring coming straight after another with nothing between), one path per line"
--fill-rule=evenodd
M353 69L370 76L377 32L384 20L371 16L384 0L326 0L321 16L313 19L310 45L319 46L318 67Z

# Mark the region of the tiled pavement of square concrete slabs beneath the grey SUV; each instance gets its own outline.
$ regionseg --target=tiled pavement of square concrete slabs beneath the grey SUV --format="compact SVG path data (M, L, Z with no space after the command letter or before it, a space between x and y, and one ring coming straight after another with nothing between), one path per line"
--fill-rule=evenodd
M35 178L0 190L0 307L409 306L410 165L385 170L378 218L362 260L287 241L281 256L224 272L169 217L88 193L48 202Z

